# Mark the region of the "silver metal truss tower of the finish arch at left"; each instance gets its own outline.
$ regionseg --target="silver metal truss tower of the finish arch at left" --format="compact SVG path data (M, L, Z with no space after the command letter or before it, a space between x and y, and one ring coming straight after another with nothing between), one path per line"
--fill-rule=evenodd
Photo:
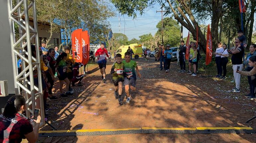
M30 12L30 13L29 13ZM29 15L30 14L30 15ZM8 17L11 27L11 48L13 74L16 95L24 95L27 104L27 117L34 112L36 100L40 99L41 124L45 125L44 117L44 100L42 91L42 76L40 68L39 54L39 35L37 25L37 12L35 0L8 0ZM30 19L33 19L30 22ZM15 32L14 26L19 27L19 32ZM36 47L36 57L32 56L31 43ZM27 47L27 51L25 50ZM17 58L22 59L22 71L18 74ZM38 87L34 84L33 72L37 71ZM30 87L30 88L29 88ZM22 90L20 90L22 89ZM31 109L32 107L32 109Z

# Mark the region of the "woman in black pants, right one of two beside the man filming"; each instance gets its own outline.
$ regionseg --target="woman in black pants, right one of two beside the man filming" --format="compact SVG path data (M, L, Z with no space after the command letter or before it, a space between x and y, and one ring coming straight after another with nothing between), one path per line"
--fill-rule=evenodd
M224 51L222 53L218 54L221 57L221 65L222 65L222 69L223 69L223 76L220 79L225 80L226 79L226 74L227 74L227 63L228 63L227 45L223 44L222 48L224 49Z

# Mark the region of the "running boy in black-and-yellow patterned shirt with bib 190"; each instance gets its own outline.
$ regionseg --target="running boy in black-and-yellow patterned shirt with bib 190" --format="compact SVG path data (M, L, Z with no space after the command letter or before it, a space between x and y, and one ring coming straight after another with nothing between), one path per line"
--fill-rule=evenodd
M115 97L116 99L118 98L119 105L123 105L123 100L121 99L122 95L122 84L124 81L124 75L123 75L123 70L124 70L124 63L121 62L122 60L122 55L121 54L116 54L116 62L112 65L110 74L113 74L112 80L115 86ZM117 90L118 90L118 95L117 95Z

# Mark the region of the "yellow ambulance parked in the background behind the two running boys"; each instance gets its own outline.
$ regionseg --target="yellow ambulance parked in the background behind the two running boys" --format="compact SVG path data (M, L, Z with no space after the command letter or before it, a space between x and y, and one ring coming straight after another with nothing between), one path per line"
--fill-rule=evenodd
M143 56L141 44L122 45L118 48L118 50L116 51L116 54L119 53L122 55L122 58L124 58L124 53L127 52L129 46L131 47L131 49L134 53L132 55L132 57L134 57L135 59L138 59L139 57Z

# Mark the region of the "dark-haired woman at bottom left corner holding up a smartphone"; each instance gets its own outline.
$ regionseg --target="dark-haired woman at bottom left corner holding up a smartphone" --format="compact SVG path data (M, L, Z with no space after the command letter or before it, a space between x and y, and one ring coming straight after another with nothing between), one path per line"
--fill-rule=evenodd
M34 129L28 119L22 115L26 110L26 100L21 95L14 95L5 104L4 112L0 115L0 143L20 143L27 139L35 143L38 138L41 117L38 116Z

